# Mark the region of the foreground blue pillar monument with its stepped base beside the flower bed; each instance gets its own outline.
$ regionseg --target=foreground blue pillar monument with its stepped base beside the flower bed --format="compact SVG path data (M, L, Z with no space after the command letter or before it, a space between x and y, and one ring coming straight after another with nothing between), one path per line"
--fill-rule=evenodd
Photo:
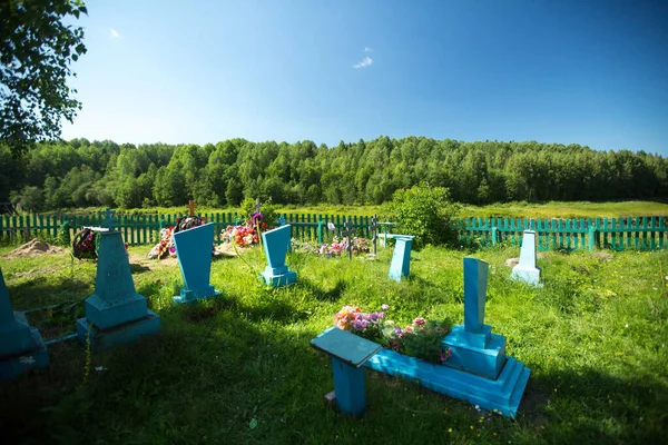
M505 337L484 324L488 264L464 258L464 324L442 342L452 356L442 365L381 349L364 366L418 380L422 386L514 418L531 370L505 356Z

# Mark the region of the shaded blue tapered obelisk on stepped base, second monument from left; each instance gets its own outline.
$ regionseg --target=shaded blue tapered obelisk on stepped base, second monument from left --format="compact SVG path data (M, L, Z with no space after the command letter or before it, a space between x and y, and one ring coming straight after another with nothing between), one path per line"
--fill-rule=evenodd
M140 336L156 334L160 317L148 310L146 298L135 290L120 231L100 231L95 293L86 298L86 317L77 320L81 344L105 350Z

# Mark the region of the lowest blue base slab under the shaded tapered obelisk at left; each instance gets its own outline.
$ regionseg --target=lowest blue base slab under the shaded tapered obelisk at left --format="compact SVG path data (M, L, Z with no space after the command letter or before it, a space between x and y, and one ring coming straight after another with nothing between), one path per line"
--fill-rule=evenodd
M106 350L118 345L135 343L144 335L153 335L160 330L160 317L148 310L148 315L108 329L100 329L88 322L88 318L77 320L77 335L82 345L90 342L92 350Z

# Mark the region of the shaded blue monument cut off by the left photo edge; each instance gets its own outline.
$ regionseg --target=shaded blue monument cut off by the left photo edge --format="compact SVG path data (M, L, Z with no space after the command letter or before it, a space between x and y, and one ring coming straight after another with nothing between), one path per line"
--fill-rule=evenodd
M14 378L32 368L49 366L49 354L26 314L14 312L0 269L0 378Z

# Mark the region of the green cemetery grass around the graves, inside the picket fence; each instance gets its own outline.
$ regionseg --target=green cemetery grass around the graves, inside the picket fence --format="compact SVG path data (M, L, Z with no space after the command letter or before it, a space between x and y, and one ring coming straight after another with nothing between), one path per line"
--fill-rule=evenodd
M147 251L130 249L134 279L161 333L89 363L84 346L60 343L48 369L0 383L6 443L645 444L668 435L667 251L609 261L547 253L542 289L508 280L503 263L517 248L426 248L399 284L386 278L390 249L352 263L294 254L298 285L272 290L256 279L256 249L243 253L248 264L216 260L212 283L223 296L191 307L170 300L178 265L145 260ZM491 265L485 322L532 372L517 421L369 369L363 417L325 408L332 368L310 339L346 304L389 304L399 323L461 323L465 255ZM31 314L48 338L71 332L94 288L95 265L72 267L67 255L2 259L2 270L16 309L68 304Z

